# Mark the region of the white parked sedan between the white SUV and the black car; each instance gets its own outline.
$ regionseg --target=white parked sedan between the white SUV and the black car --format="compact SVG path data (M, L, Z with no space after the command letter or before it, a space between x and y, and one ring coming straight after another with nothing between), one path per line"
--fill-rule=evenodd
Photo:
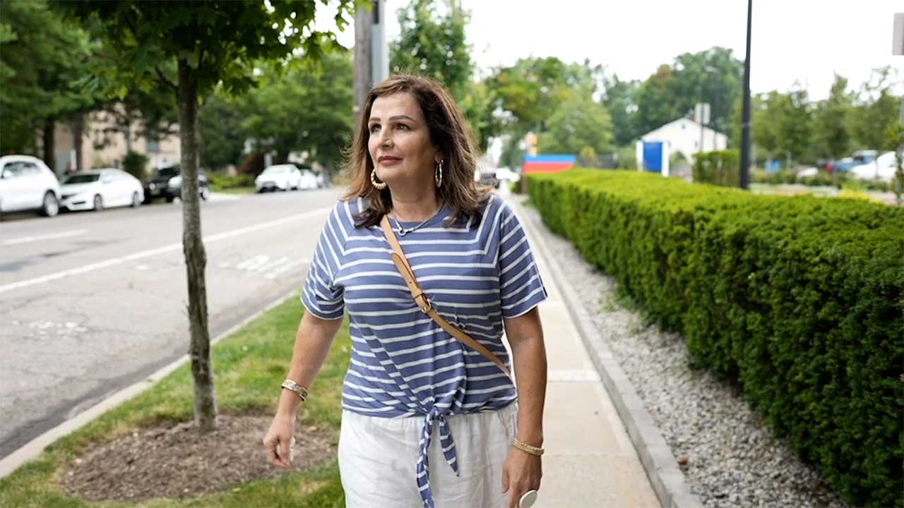
M61 205L73 212L131 206L145 201L141 182L121 169L105 168L67 175L60 187Z

